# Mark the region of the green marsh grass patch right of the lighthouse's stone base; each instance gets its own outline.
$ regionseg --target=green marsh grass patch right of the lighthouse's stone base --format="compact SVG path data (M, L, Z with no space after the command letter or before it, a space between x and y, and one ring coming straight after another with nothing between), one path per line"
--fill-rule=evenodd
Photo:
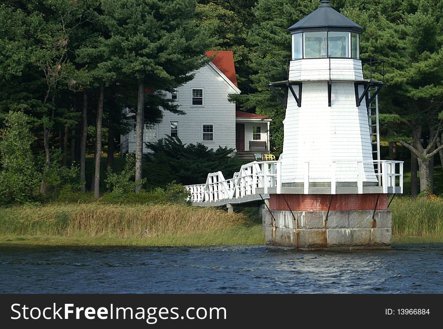
M443 198L398 197L390 210L394 237L443 238Z

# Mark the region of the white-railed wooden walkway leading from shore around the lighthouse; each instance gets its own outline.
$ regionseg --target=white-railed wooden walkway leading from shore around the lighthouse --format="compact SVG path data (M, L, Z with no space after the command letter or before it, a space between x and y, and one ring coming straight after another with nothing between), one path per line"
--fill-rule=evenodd
M346 161L349 163L349 161ZM364 164L374 165L375 183L365 186ZM282 184L281 161L254 161L243 165L233 178L225 179L221 171L210 173L204 184L187 185L190 200L196 206L245 204L269 198L269 194L366 194L403 193L403 161L356 161L357 181L341 182L340 161L329 164L328 181L313 182L310 164L304 164L304 177L294 183Z

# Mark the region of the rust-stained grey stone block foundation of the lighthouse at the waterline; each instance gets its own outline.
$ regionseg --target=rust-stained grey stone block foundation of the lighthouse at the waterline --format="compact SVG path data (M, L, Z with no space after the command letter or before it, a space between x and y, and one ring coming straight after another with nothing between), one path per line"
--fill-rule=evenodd
M386 249L391 246L391 211L262 210L266 244L317 249ZM271 215L272 213L272 215Z

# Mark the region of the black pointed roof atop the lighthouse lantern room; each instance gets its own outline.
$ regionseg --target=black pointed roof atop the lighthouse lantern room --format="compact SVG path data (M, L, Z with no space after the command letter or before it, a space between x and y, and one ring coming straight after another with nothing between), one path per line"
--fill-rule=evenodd
M320 7L288 29L291 33L302 31L350 31L360 33L363 28L334 10L328 0Z

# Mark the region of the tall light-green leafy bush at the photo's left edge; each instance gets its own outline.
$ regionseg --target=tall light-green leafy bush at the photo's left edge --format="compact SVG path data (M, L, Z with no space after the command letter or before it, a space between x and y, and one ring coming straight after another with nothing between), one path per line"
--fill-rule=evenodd
M10 112L0 141L0 204L26 203L35 199L41 175L36 169L31 145L35 137L23 112Z

